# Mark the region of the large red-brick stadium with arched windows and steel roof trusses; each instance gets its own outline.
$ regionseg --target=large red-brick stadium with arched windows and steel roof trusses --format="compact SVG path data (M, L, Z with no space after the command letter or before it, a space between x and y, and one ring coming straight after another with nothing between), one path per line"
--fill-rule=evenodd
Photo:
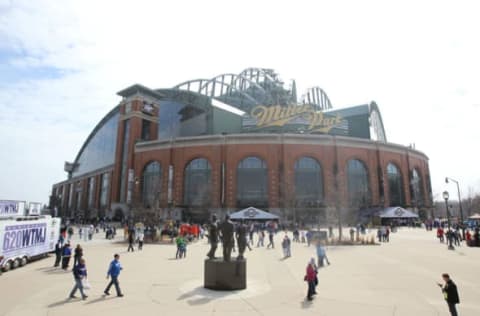
M355 223L389 206L431 207L428 157L387 142L374 102L333 108L322 89L297 97L295 81L259 68L118 95L53 185L62 216L204 221L254 206Z

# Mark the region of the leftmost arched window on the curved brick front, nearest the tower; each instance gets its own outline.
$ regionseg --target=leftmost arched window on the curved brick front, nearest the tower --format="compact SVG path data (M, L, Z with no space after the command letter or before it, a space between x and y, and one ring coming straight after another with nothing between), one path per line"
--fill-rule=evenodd
M152 161L145 166L142 174L142 197L145 207L155 207L160 200L162 188L162 166Z

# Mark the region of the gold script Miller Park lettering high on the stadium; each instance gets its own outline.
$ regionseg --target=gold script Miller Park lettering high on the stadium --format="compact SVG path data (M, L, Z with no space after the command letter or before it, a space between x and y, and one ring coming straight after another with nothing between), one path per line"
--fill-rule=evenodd
M328 115L316 111L311 104L301 105L258 105L250 111L250 117L256 128L283 127L289 124L300 124L310 133L328 133L339 125L343 119L339 115Z

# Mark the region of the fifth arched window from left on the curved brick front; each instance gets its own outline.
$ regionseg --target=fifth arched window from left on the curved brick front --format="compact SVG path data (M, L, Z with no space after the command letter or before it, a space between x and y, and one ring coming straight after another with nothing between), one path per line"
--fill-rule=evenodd
M357 159L347 164L348 200L352 207L366 207L370 204L370 186L365 164Z

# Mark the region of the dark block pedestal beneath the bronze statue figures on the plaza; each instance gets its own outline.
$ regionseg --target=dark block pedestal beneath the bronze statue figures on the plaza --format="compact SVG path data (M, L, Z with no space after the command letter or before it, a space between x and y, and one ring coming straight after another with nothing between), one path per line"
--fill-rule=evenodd
M247 261L206 259L203 283L203 286L210 290L244 290L247 288Z

